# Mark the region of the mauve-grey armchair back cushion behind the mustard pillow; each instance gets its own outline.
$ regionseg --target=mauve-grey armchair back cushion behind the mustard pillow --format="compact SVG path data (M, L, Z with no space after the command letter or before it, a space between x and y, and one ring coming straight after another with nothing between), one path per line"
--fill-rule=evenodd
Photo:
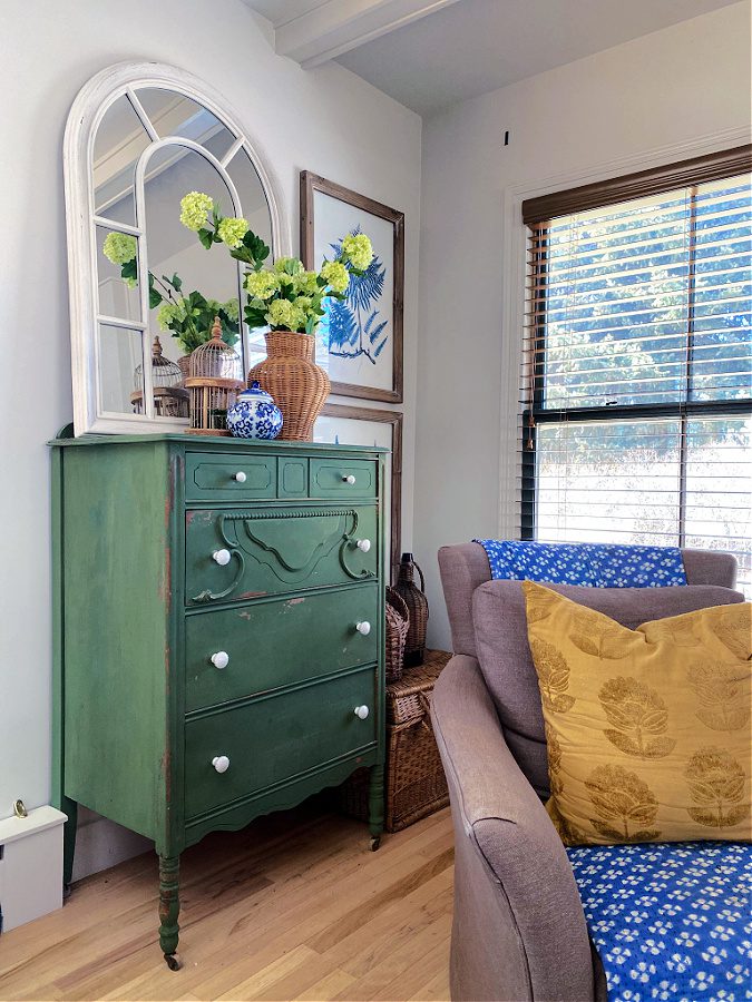
M656 589L551 584L550 588L629 629L650 619L744 600L739 592L715 584ZM543 709L527 639L521 581L487 581L476 588L472 620L478 660L507 743L534 788L547 796Z

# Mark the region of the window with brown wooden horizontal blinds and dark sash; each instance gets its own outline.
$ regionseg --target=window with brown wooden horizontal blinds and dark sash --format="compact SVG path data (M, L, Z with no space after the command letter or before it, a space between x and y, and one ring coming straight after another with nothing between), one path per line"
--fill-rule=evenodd
M750 147L524 203L521 534L733 552L752 588Z

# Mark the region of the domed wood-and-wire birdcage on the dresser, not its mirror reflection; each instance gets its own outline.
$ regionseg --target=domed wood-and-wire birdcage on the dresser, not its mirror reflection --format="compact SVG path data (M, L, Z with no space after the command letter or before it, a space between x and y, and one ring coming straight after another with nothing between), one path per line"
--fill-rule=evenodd
M191 428L194 435L228 435L227 407L243 386L241 356L222 340L219 317L214 317L212 340L191 355L185 381L191 394Z

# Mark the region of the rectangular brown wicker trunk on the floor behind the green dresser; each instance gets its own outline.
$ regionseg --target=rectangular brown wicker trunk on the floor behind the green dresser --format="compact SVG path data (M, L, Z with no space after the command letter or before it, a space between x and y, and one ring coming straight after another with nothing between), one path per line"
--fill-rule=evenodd
M433 685L450 657L443 650L427 650L424 664L407 668L399 681L387 686L388 832L407 828L449 803L429 709ZM358 769L340 787L341 809L367 819L368 793L368 769Z

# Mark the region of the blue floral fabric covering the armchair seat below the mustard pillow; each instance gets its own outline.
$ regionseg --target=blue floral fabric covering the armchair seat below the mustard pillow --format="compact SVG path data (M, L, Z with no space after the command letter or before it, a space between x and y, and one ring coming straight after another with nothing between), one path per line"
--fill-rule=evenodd
M567 848L609 1002L752 999L752 845Z

